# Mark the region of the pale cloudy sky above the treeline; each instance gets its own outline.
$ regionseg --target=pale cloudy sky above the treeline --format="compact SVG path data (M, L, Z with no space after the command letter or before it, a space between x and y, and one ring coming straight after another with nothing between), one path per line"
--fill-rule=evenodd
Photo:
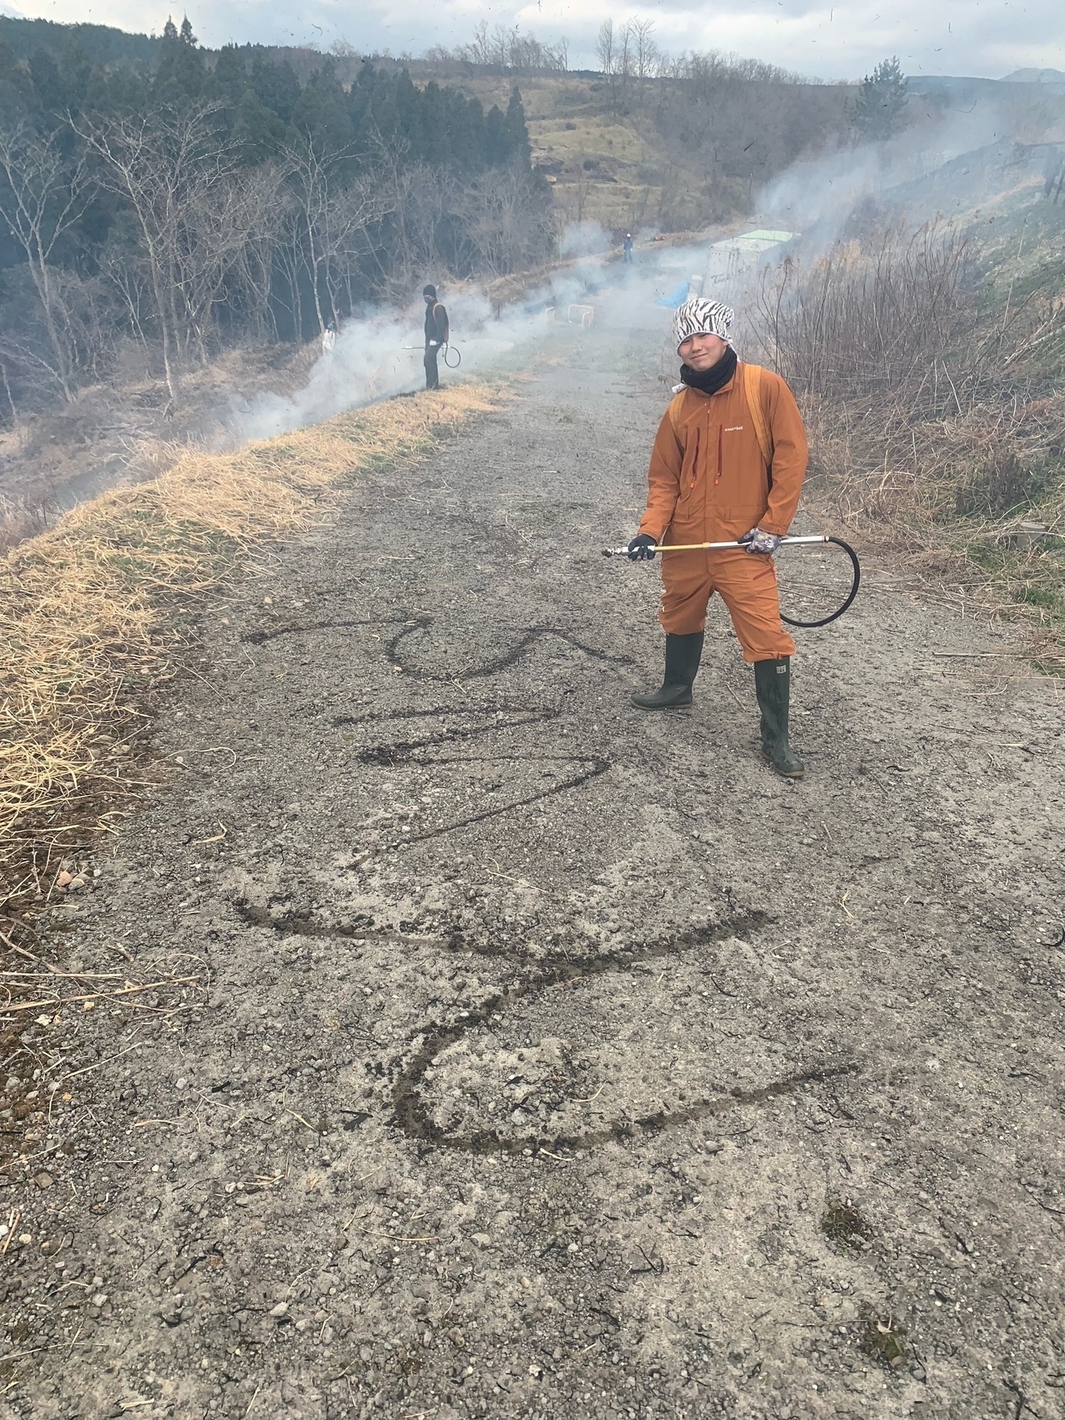
M168 0L16 0L6 13L92 20L159 31L185 7ZM751 55L825 80L861 78L889 54L910 74L1001 78L1018 68L1065 70L1062 0L657 0L636 7L611 0L187 0L202 43L227 40L318 44L346 40L359 51L417 54L464 43L474 24L520 26L544 41L565 37L574 68L594 67L604 18L655 21L663 48Z

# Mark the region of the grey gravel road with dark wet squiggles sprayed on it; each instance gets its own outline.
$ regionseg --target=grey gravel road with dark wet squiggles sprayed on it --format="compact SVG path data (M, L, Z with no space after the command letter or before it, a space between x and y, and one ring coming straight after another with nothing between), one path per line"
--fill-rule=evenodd
M870 567L805 782L720 609L630 709L663 393L562 341L207 616L51 920L152 990L31 1032L0 1413L1065 1413L1065 699Z

